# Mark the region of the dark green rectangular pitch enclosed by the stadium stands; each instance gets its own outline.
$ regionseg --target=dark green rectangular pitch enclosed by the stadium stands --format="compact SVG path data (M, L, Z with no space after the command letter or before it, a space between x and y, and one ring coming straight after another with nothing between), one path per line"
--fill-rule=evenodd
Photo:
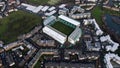
M61 23L61 22L59 22L59 21L56 22L56 23L54 23L54 24L51 25L51 26L52 26L53 28L57 29L58 31L66 34L66 35L70 35L70 34L73 32L73 30L74 30L74 28L69 27L69 26L67 26L67 25L65 25L65 24L63 24L63 23Z

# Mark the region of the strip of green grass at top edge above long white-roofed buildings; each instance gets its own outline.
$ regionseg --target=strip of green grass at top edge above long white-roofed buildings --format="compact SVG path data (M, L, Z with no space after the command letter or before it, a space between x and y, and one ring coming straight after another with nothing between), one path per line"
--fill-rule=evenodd
M27 0L28 3L36 4L36 5L55 5L59 2L60 0Z

